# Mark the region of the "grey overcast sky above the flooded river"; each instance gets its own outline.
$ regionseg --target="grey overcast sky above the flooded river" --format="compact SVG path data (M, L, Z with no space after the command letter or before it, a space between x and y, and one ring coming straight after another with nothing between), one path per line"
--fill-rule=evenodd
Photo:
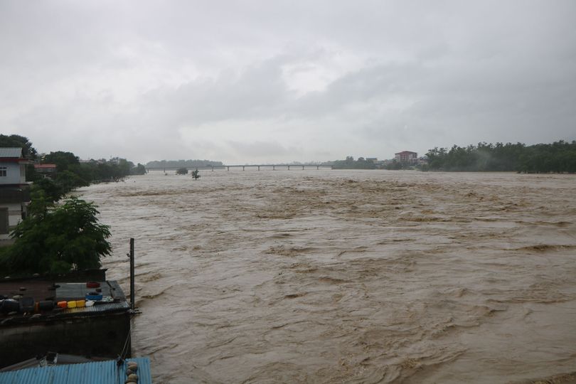
M0 132L227 164L576 139L576 1L0 1Z

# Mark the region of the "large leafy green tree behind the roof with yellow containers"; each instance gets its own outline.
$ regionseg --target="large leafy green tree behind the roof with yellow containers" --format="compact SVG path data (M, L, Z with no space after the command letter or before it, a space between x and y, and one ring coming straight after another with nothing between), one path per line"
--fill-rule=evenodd
M110 228L98 222L93 203L70 198L55 207L43 191L31 203L31 215L11 234L14 245L3 252L2 264L11 273L65 273L101 266L110 255Z

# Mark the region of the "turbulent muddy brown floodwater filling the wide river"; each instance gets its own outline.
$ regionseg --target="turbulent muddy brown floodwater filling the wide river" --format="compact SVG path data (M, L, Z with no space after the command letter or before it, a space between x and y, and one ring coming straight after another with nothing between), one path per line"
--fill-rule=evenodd
M151 173L90 186L155 383L507 383L576 370L576 177Z

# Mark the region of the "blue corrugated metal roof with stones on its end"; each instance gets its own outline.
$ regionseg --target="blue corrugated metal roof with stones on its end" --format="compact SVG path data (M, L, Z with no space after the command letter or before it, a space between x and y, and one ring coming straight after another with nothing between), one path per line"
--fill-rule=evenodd
M138 384L152 384L149 358L128 358L120 366L108 360L1 372L0 384L123 384L129 361L138 364Z

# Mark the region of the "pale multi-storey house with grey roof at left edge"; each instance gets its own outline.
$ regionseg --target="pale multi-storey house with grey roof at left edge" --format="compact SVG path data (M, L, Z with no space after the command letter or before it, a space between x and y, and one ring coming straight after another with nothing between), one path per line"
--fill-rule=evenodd
M26 183L26 165L21 148L0 148L0 241L26 217L30 190Z

